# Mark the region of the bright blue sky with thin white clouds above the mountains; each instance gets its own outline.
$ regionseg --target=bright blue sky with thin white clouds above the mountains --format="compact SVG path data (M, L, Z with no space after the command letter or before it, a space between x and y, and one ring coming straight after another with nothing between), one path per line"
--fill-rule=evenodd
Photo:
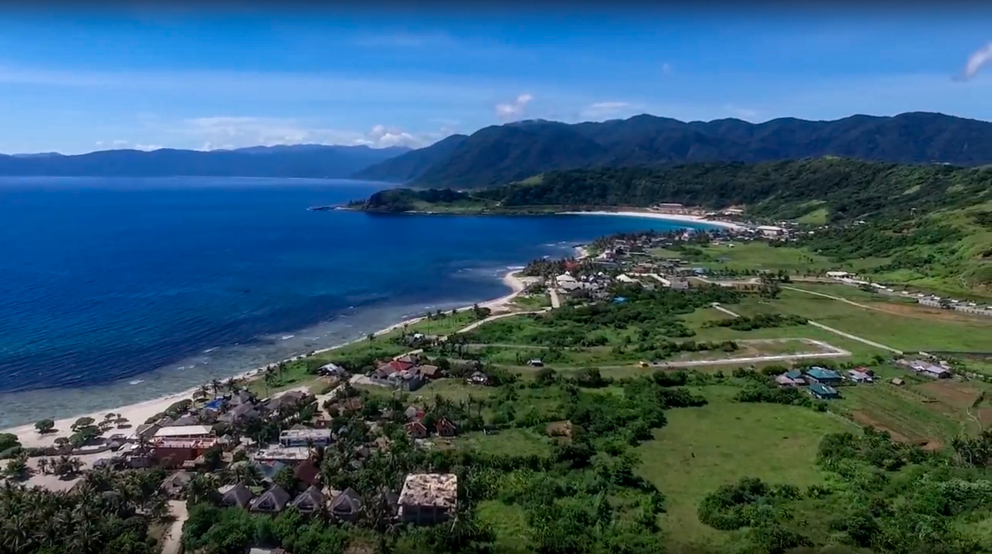
M11 12L0 152L419 147L518 119L639 113L992 120L992 66L955 78L969 56L992 59L992 12L705 6Z

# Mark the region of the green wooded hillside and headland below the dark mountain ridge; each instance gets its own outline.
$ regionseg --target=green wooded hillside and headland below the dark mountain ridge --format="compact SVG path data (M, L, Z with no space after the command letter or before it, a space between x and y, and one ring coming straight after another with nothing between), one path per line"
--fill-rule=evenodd
M835 261L878 259L868 273L892 281L948 291L987 292L992 285L990 168L823 158L757 165L571 169L471 196L397 189L373 197L367 207L448 211L445 200L425 196L444 194L458 195L462 212L646 207L658 202L713 209L746 205L748 215L758 219L826 224L803 237L801 245ZM419 195L421 203L390 199L411 195Z

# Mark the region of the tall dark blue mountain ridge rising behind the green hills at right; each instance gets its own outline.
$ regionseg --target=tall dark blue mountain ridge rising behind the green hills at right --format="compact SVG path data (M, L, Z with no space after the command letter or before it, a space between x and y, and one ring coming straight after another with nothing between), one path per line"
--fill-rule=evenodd
M823 156L899 164L992 164L992 123L930 112L834 121L780 118L757 124L739 119L686 123L647 114L602 123L532 120L441 141L356 176L420 187L476 188L562 169Z

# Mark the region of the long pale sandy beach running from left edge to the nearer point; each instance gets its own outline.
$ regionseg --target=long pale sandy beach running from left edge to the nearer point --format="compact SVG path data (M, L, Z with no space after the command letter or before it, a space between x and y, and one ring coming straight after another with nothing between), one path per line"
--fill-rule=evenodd
M508 287L510 287L511 291L509 293L504 294L503 296L500 296L498 298L493 298L491 300L485 300L485 301L482 301L482 302L478 302L478 305L480 307L487 307L487 308L493 310L494 312L496 312L498 310L505 310L505 309L507 309L508 308L508 304L511 301L513 301L513 299L516 298L524 290L524 288L526 288L526 286L527 286L527 280L525 278L522 278L522 277L519 277L519 276L516 275L519 272L520 272L520 269L511 269L501 279L501 281L505 285L507 285ZM457 309L458 310L462 310L462 309L470 308L470 307L471 307L471 305L468 305L468 306L459 307ZM400 321L400 322L391 324L391 325L389 325L387 327L384 327L382 329L379 329L378 331L374 331L373 334L375 336L385 335L387 333L390 333L392 331L395 331L396 329L403 328L404 325L411 325L413 323L417 323L419 321L422 321L423 319L424 319L424 316L418 316L418 317L412 317L412 318L409 318L409 319L405 319L403 321ZM366 338L362 337L362 338L359 338L359 339L355 339L353 341L344 342L344 343L341 343L341 344L338 344L338 345L334 345L334 346L331 346L331 347L328 347L328 348L322 348L322 349L319 349L319 350L315 350L315 351L313 351L313 354L322 354L322 353L326 353L326 352L331 352L331 351L337 350L339 348L342 348L344 346L347 346L347 345L350 345L350 344L354 344L356 342L360 342L360 341L363 341L363 340L366 340ZM257 379L257 377L262 372L264 372L266 369L268 369L270 367L274 367L274 366L276 366L276 365L278 365L280 363L283 363L283 362L286 362L286 363L294 362L294 361L297 361L297 360L300 360L300 359L303 359L303 358L306 358L306 357L307 357L306 355L292 356L290 358L286 358L286 359L281 360L281 361L271 362L269 364L266 364L265 366L262 366L262 367L259 367L259 368L255 368L253 370L247 370L247 371L244 371L244 372L241 372L241 373L232 375L232 376L228 376L228 377L225 377L225 378L222 378L222 379L218 378L217 381L219 381L220 383L226 383L226 382L228 382L228 381L230 381L232 379L251 381L253 379ZM209 384L206 383L206 384L203 384L203 385L209 385ZM109 431L107 431L106 433L104 433L103 435L104 436L109 436L109 435L113 435L113 434L117 434L117 433L122 433L122 434L125 434L126 435L126 434L132 433L133 430L138 425L141 425L142 423L144 423L146 419L152 417L153 415L155 415L157 413L160 413L160 412L165 411L173 403L178 402L178 401L183 400L183 399L186 399L186 398L189 398L192 395L192 393L197 388L199 388L199 386L193 387L193 388L187 388L186 390L182 390L182 391L179 391L179 392L172 392L172 393L165 394L165 395L162 395L162 396L159 396L159 397L156 397L156 398L150 398L148 400L142 400L140 402L134 402L134 403L131 403L131 404L125 404L125 405L116 406L116 407L107 407L107 408L101 409L99 411L94 411L94 412L89 412L89 413L77 413L77 414L72 415L72 416L61 417L59 419L54 419L55 422L56 422L56 426L55 426L56 431L53 431L53 432L50 432L50 433L46 433L44 435L41 434L41 433L39 433L38 430L35 428L35 422L24 423L24 424L17 425L17 426L14 426L14 427L9 427L9 428L6 428L6 429L0 429L0 433L14 433L14 434L16 434L18 436L18 439L20 440L22 446L24 446L25 448L40 448L40 447L52 446L52 445L55 444L55 440L57 438L59 438L59 437L68 437L71 434L71 431L69 430L69 427L79 417L92 417L97 422L99 422L99 421L102 421L103 420L105 414L107 414L107 413L115 413L115 414L118 414L118 416L126 417L128 419L128 421L129 421L129 423L131 424L131 427L126 428L126 429L112 428Z

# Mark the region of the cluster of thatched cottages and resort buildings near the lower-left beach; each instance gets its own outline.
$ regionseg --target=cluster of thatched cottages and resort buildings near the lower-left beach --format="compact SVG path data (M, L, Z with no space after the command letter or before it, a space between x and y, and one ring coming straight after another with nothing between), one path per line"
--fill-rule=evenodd
M331 393L333 396L333 393ZM238 398L237 400L235 398ZM277 398L254 403L247 393L232 394L217 402L223 410L218 415L234 413L237 418L263 416L278 413L281 406L309 404L315 398L304 392L287 392ZM343 407L360 409L361 399L358 397L341 398L337 400ZM210 402L214 403L214 402ZM253 410L237 409L237 406L251 404ZM210 405L210 404L208 404ZM425 424L425 410L412 405L405 414L408 418L407 432L414 438L425 438L430 435ZM318 414L311 420L327 421L323 414ZM321 486L320 471L313 461L313 451L316 447L326 447L334 440L334 434L326 424L308 427L301 424L284 429L279 434L278 442L268 445L249 444L250 439L241 439L234 445L231 441L222 442L223 437L214 436L211 427L202 424L177 425L178 421L162 426L159 423L144 426L142 431L152 433L148 440L148 464L157 464L165 468L176 469L162 484L163 490L173 498L181 498L186 492L186 486L192 480L197 469L202 468L204 453L215 446L221 446L225 452L233 453L245 449L248 458L232 462L229 469L237 470L238 465L249 465L254 473L261 478L263 487L249 487L245 483L227 486L218 491L220 504L229 507L240 507L261 513L278 513L288 507L296 507L302 512L312 513L325 511L335 519L354 521L361 513L369 499L363 498L353 489L335 491ZM163 422L165 423L165 422ZM432 423L434 433L439 436L454 436L456 425L446 418L437 418ZM388 442L383 438L376 440L374 448L384 447ZM251 446L248 450L247 447ZM359 448L353 464L361 464L371 454L368 446ZM276 477L290 469L302 491L289 491L276 484ZM432 524L448 519L457 504L457 478L453 474L411 474L405 479L400 494L383 490L379 492L381 499L386 502L392 517L396 521L415 524Z

